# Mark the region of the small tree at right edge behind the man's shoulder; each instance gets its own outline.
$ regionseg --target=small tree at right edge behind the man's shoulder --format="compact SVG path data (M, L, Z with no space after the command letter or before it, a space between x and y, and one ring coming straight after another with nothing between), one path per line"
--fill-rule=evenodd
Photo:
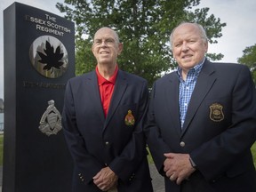
M256 84L256 44L246 47L243 56L237 59L238 63L247 65L252 73L254 84Z

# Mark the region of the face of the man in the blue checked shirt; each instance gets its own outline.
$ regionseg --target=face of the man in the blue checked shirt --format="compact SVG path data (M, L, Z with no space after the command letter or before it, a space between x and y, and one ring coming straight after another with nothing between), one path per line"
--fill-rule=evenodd
M172 36L172 54L182 70L188 71L199 64L207 49L208 43L195 25L186 23L175 29Z

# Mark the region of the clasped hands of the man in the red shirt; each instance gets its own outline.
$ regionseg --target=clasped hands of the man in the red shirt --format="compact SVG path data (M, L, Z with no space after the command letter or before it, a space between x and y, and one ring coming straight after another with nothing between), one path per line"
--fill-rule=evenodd
M102 191L115 188L118 177L109 167L104 167L93 178L93 183Z

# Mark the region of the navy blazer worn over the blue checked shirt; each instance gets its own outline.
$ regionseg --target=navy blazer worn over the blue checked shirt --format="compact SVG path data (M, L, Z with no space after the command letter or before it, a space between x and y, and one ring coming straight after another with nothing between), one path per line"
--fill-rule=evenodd
M164 153L187 153L197 165L181 186L165 177L166 191L256 191L250 150L256 139L256 92L246 66L205 60L182 130L177 73L158 79L145 134L163 175Z

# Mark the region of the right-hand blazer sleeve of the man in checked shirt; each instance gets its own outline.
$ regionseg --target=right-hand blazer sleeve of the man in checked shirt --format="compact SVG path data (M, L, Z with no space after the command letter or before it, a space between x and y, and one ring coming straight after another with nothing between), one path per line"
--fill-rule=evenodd
M231 124L220 135L190 153L206 180L227 172L228 167L233 167L234 172L234 167L238 169L239 164L246 164L247 155L256 140L255 85L249 69L241 66L235 74L234 87L230 89Z

